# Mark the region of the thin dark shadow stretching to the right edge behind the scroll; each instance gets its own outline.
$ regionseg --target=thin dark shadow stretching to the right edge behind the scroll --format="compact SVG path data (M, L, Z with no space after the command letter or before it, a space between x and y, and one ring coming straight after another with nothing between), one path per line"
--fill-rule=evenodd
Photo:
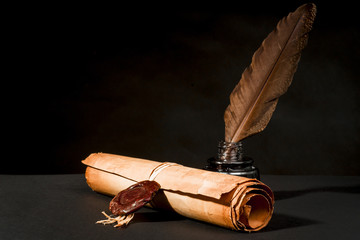
M308 193L316 192L339 192L339 193L353 193L360 194L360 185L343 186L343 187L321 187L295 191L274 191L275 201L284 200L294 197L299 197Z

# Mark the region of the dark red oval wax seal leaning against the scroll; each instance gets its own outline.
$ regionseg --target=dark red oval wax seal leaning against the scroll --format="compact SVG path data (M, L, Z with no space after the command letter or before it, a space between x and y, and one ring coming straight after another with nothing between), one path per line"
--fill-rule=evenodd
M111 200L109 209L115 215L133 213L150 202L159 189L160 184L155 181L138 182L119 192Z

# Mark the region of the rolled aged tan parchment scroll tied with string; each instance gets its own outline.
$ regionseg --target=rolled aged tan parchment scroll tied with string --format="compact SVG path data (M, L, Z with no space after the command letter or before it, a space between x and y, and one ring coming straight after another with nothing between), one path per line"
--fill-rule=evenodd
M233 230L258 231L273 213L274 195L256 179L105 153L91 154L83 163L96 192L114 196L136 182L155 180L161 191L152 207Z

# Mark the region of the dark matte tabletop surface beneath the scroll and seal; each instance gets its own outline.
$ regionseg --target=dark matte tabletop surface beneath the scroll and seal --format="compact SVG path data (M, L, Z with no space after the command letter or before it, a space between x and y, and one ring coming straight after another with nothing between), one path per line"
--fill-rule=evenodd
M169 212L141 209L126 228L95 224L110 197L84 175L0 175L0 239L356 239L359 176L262 176L275 212L259 232L235 232Z

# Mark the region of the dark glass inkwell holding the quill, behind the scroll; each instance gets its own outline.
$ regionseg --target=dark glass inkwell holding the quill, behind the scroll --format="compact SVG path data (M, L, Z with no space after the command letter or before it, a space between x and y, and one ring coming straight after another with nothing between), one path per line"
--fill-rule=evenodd
M208 159L205 170L260 179L259 170L253 164L252 158L244 156L242 142L220 141L217 157Z

